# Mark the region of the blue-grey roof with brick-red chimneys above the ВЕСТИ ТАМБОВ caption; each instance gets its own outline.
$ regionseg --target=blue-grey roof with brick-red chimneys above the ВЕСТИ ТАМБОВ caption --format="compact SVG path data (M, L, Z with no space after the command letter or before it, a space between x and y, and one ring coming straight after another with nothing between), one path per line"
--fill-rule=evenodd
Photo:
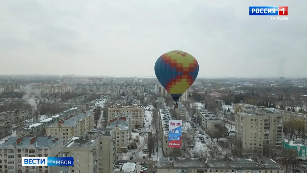
M10 144L13 145L15 148L28 148L29 145L31 145L31 139L32 139L32 144L36 148L51 148L56 143L59 143L62 140L64 140L63 138L59 139L48 136L21 136L19 138L11 137L8 141L0 144L0 148L6 148ZM19 141L18 144L17 141Z

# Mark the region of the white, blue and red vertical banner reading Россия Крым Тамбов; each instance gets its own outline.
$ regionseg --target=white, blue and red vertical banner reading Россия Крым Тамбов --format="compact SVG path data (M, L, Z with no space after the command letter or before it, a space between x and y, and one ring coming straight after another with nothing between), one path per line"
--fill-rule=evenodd
M169 148L181 147L182 120L169 120Z

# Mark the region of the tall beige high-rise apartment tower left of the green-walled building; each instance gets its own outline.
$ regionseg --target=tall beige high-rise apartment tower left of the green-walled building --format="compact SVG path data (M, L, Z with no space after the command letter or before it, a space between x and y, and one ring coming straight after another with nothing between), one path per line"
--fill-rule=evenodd
M249 106L248 106L249 107ZM281 150L283 119L277 111L255 106L254 112L240 112L235 115L235 139L243 151L259 149L262 155L270 150Z

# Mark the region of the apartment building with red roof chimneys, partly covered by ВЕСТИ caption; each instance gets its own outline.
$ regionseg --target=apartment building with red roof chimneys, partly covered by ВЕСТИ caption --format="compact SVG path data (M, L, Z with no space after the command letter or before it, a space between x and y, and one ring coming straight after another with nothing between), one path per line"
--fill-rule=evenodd
M21 166L22 157L57 157L64 139L45 136L11 137L0 144L0 172L3 173L51 173L56 166Z

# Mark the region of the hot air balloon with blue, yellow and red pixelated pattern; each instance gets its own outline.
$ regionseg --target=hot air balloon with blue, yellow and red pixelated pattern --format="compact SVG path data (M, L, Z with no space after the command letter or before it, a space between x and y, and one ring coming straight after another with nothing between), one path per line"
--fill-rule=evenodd
M180 96L195 81L198 74L198 62L184 51L173 50L157 59L154 71L158 81L176 102L176 106Z

